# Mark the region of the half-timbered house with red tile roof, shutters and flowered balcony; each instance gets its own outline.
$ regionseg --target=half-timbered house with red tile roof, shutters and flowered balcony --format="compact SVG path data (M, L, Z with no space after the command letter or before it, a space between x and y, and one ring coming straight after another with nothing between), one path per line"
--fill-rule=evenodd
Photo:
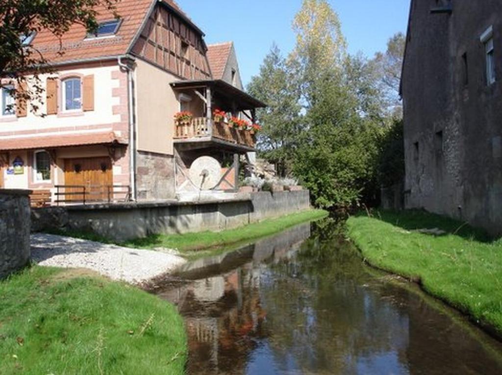
M46 30L27 41L53 70L39 77L38 111L2 81L0 188L50 192L53 203L235 191L255 139L214 112L252 124L265 104L243 91L233 44L207 46L172 0L122 0L116 11L99 10L95 33L73 25L61 41Z

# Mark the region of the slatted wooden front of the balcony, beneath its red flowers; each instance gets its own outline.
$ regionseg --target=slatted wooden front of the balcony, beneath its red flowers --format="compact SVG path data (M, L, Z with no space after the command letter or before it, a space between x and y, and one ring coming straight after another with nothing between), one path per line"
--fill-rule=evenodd
M175 121L175 143L214 142L222 146L255 151L256 136L248 130L230 128L227 123L214 123L206 117L191 121Z

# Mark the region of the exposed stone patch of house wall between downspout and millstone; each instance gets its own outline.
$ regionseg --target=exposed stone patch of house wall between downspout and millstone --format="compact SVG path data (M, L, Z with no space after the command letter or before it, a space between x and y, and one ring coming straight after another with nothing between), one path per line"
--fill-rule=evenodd
M140 151L136 164L139 201L175 198L173 156Z

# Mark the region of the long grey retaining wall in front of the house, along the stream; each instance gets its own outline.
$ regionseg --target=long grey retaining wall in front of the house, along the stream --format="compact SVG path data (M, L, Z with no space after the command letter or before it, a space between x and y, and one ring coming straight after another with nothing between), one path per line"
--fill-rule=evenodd
M53 227L91 231L123 241L150 234L176 234L235 228L265 218L310 208L308 190L259 192L233 200L149 202L65 208L39 208L32 213L37 230Z

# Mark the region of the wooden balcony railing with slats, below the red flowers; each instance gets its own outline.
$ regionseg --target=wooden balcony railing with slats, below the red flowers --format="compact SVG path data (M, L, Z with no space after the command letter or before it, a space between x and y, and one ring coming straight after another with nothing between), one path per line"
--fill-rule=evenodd
M228 124L213 123L206 117L195 117L191 122L176 122L175 136L177 140L196 138L217 138L226 142L255 148L255 136L247 130L230 128Z

